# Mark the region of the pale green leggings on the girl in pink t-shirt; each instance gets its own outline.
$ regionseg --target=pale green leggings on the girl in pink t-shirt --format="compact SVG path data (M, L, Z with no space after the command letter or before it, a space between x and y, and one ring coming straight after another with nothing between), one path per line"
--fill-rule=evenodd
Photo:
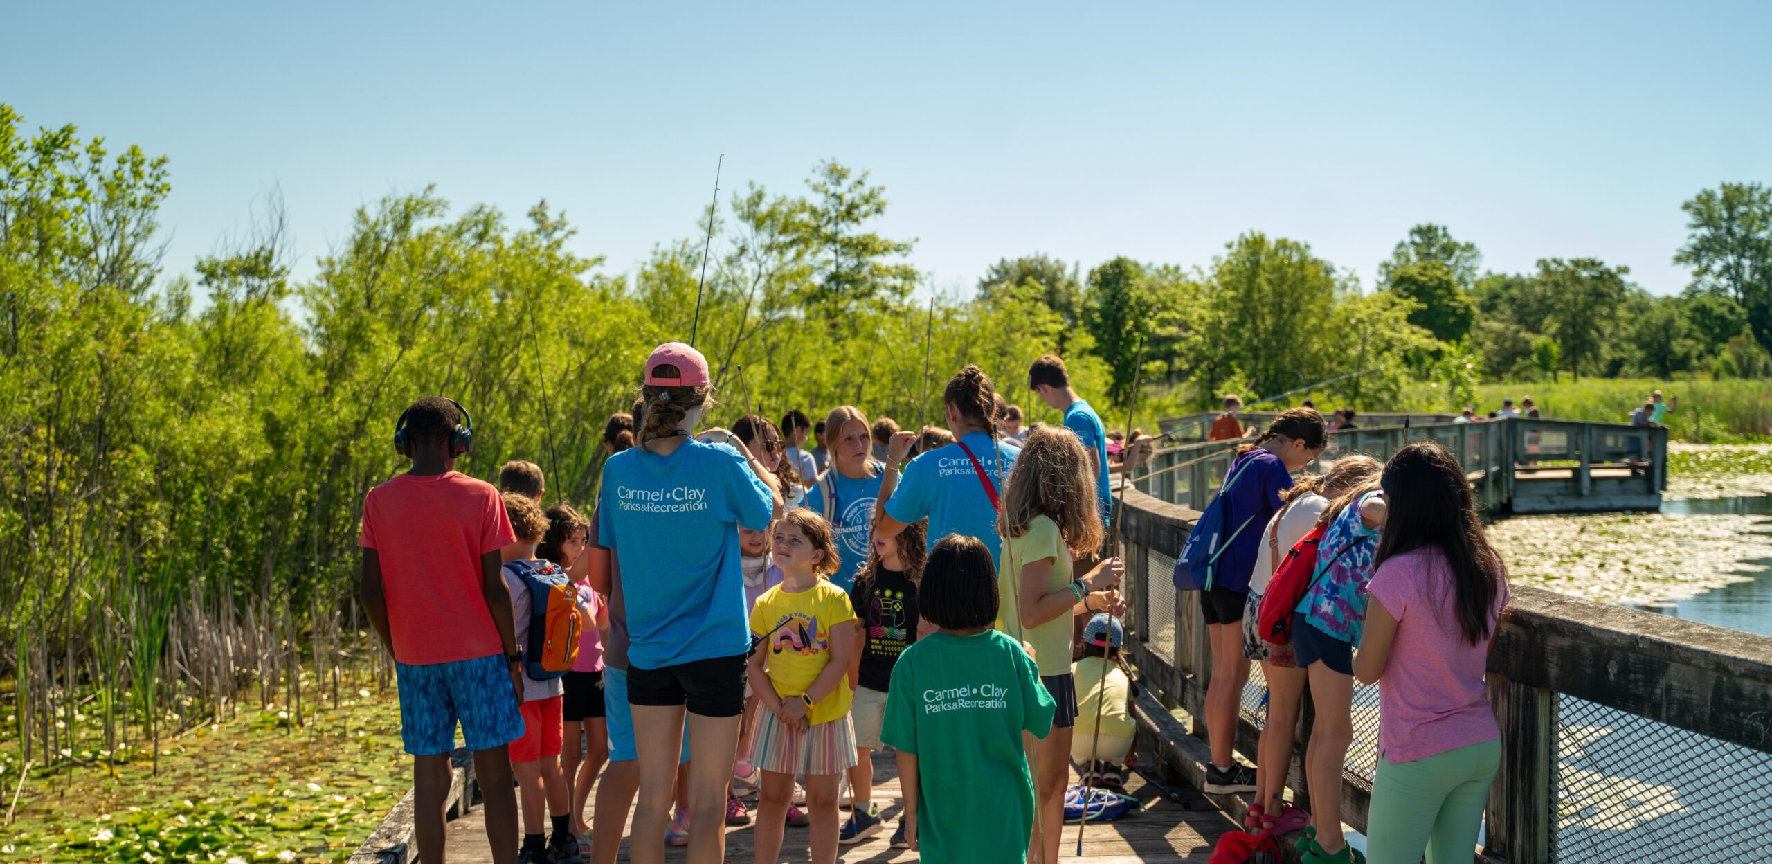
M1398 765L1380 756L1366 816L1366 860L1416 864L1426 850L1426 864L1469 862L1497 770L1499 740Z

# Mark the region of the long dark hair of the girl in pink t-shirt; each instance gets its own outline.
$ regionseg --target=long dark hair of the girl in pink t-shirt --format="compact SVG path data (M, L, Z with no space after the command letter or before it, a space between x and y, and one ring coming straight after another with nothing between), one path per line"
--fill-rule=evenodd
M1458 457L1435 441L1414 441L1384 464L1380 485L1386 517L1373 570L1416 549L1444 552L1458 629L1467 643L1483 644L1490 634L1488 614L1506 575L1501 556L1483 533Z

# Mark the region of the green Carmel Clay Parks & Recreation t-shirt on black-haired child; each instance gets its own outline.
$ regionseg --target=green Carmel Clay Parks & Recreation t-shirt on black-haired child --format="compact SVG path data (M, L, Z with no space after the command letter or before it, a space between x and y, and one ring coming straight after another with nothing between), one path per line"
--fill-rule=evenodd
M1026 860L1033 777L1021 733L1045 738L1054 705L1033 657L1001 630L936 632L898 655L881 740L916 756L923 860Z

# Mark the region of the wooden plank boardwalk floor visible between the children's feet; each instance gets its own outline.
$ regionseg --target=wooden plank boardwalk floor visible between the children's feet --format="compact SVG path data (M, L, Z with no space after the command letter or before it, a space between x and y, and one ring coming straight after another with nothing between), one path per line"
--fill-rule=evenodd
M1145 747L1141 747L1141 751L1139 763L1145 765L1146 770L1154 770L1157 765L1155 756L1152 756ZM1072 783L1079 781L1074 777ZM1189 804L1184 806L1182 802L1171 800L1155 784L1146 783L1132 772L1127 781L1125 793L1145 802L1145 811L1120 822L1092 823L1084 834L1083 859L1074 857L1077 850L1077 827L1067 825L1063 843L1060 845L1060 862L1090 860L1097 864L1131 864L1161 860L1203 864L1207 857L1210 857L1217 837L1226 830L1237 830L1237 825L1232 823L1223 813L1209 809L1210 804L1207 804L1205 798L1201 798L1194 790L1187 786L1170 788L1185 797ZM595 797L592 797L592 800L595 800ZM895 760L891 758L891 751L874 754L874 800L881 806L881 816L886 820L886 825L867 843L840 846L838 860L893 864L918 860L914 852L895 850L890 846L891 832L898 827L898 811L902 809L898 770L895 767ZM746 804L755 806L755 800L746 800ZM489 864L493 860L486 846L482 814L484 811L475 806L471 813L448 825L450 864ZM843 818L847 818L847 811L843 813ZM991 818L991 795L985 791L980 791L978 797L978 818ZM585 855L587 860L590 860L588 846L585 848ZM686 850L677 846L666 850L664 860L684 860L684 857ZM778 860L799 862L806 859L806 829L787 829L787 837L781 843L781 857ZM622 841L620 860L627 860L626 839ZM751 864L755 860L755 853L751 852L750 825L727 829L727 860L735 864Z

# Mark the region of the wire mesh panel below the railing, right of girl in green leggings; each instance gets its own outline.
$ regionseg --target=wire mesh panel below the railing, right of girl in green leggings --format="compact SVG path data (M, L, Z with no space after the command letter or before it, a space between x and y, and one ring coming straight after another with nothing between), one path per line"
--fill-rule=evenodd
M1558 696L1552 860L1772 860L1772 754Z

